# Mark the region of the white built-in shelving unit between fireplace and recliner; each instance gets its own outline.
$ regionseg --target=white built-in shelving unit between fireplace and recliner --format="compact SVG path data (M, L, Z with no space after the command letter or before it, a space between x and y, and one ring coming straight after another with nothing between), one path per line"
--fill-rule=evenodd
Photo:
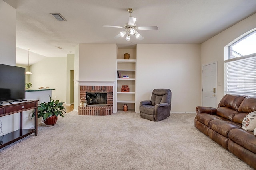
M120 78L118 73L121 74ZM129 78L123 78L123 76ZM121 92L122 85L128 85L130 92ZM128 104L128 109L135 108L136 95L136 59L116 60L116 105L117 109L122 109L124 104Z

